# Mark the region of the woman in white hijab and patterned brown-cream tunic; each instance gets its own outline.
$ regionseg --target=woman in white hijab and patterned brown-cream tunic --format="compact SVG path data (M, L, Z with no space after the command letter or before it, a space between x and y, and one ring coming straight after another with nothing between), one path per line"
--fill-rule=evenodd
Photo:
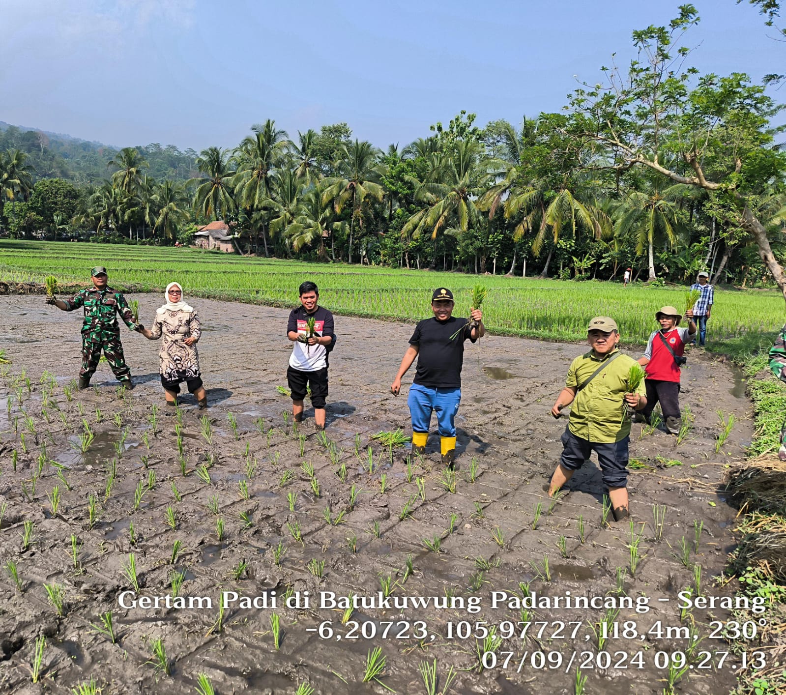
M183 289L178 282L170 282L165 294L167 303L156 309L156 320L152 330L140 331L150 340L161 343L161 384L168 406L178 403L180 384L185 381L189 393L193 393L200 408L208 406L208 395L204 391L199 370L199 355L196 342L200 339L199 317L193 307L183 301Z

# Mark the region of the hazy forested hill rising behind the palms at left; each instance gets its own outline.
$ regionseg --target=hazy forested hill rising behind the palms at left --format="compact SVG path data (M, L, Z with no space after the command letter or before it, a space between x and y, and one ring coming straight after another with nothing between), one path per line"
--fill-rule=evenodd
M109 178L113 170L107 168L107 162L119 150L100 142L0 121L0 152L6 149L20 149L26 153L35 178L65 178L78 185L100 183ZM150 165L145 173L156 180L168 178L185 182L198 173L194 163L197 153L193 149L181 152L174 145L163 147L157 142L136 145L136 149Z

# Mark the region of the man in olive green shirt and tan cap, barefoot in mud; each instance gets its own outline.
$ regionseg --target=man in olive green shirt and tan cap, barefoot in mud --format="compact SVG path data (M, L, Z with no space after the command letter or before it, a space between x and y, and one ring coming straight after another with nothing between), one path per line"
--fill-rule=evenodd
M571 480L574 471L584 465L594 450L603 481L608 485L614 518L619 521L628 517L630 418L625 406L641 410L647 405L645 383L641 381L635 393L627 392L630 366L637 362L619 351L619 329L613 318L593 318L587 340L592 350L571 362L565 388L551 409L554 417L560 417L560 410L572 403L549 496L556 495Z

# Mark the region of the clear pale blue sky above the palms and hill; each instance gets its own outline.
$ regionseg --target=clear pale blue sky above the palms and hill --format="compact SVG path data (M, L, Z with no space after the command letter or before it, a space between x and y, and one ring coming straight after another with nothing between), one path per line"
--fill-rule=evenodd
M747 2L700 0L702 72L786 72ZM462 108L476 123L555 111L677 0L263 2L0 0L0 120L111 145L228 147L274 118L347 121L406 145ZM773 95L784 100L786 88Z

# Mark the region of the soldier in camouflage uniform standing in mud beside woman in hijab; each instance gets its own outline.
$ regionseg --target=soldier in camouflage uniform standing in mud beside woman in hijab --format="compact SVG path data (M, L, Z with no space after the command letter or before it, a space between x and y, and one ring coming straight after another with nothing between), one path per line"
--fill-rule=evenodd
M53 304L62 311L74 311L84 307L85 319L82 325L82 369L79 370L79 388L90 386L90 377L101 359L101 350L117 380L126 388L134 388L131 384L131 371L123 357L123 345L120 344L120 329L116 314L132 331L141 331L144 326L134 323L134 314L121 292L107 286L106 268L94 267L90 272L94 287L80 289L68 300L50 297L46 303Z

